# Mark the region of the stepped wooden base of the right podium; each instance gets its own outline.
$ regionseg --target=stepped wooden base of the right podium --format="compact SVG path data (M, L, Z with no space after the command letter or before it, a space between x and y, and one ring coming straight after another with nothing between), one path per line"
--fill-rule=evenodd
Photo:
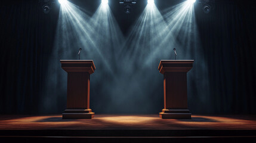
M188 109L163 109L159 113L162 119L191 119L191 113Z

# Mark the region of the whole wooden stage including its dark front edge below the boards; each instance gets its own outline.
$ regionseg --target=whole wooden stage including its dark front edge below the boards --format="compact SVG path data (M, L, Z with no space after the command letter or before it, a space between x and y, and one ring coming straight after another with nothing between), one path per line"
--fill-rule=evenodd
M72 139L140 142L141 140L138 139L143 138L150 138L153 142L216 142L232 139L243 141L248 138L256 141L256 116L192 115L192 119L161 119L158 114L95 114L93 119L62 119L60 114L0 115L0 138L8 141L10 138L26 138L26 141L27 139L32 139L31 141L70 139L70 142L73 142ZM113 140L113 138L119 138L119 140Z

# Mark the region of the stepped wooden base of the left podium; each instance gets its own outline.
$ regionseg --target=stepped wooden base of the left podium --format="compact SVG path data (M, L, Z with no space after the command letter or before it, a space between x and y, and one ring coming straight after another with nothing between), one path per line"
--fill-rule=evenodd
M92 119L94 113L91 109L66 109L62 114L62 119Z

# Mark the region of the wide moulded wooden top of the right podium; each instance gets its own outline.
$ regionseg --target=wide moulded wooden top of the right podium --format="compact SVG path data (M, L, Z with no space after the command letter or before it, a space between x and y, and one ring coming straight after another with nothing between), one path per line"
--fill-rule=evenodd
M161 60L158 70L162 74L166 71L189 71L193 63L194 60Z

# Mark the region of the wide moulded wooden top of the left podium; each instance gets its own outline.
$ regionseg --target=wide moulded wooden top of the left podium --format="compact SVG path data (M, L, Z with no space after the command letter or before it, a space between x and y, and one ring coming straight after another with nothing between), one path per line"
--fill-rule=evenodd
M94 73L95 65L92 60L60 60L65 71L88 71Z

